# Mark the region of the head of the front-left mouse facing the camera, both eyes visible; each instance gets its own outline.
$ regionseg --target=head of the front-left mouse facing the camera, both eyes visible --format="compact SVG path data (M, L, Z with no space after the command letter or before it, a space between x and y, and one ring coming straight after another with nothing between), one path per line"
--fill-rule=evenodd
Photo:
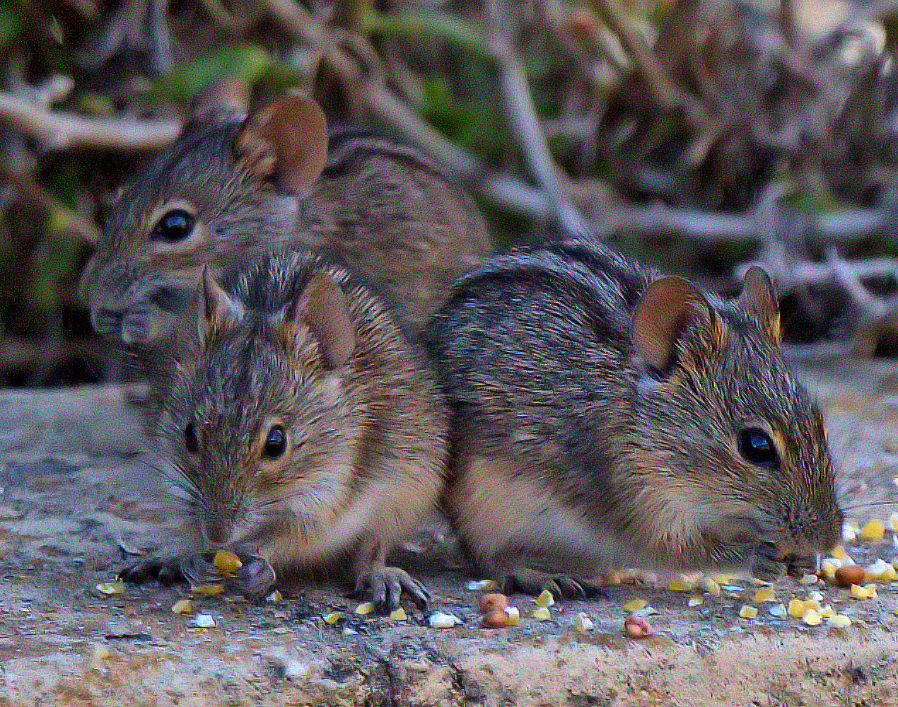
M198 355L159 439L207 545L261 545L297 527L311 544L314 519L348 484L356 412L344 382L356 331L339 271L306 270L284 291L257 310L208 270L198 287Z

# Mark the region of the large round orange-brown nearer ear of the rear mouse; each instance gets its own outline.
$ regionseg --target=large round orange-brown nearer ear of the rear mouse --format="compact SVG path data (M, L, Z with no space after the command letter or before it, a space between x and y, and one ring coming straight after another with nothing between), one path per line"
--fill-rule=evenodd
M302 194L328 158L328 124L318 103L305 93L287 93L254 111L235 142L238 155L260 179Z

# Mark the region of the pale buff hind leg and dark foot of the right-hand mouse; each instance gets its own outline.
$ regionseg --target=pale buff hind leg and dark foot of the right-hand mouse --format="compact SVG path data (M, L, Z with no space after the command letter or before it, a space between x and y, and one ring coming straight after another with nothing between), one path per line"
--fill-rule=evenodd
M557 598L594 597L592 577L600 566L600 540L515 460L497 456L456 457L447 493L454 525L473 560L506 593ZM539 558L539 561L534 561ZM538 564L541 569L531 566Z

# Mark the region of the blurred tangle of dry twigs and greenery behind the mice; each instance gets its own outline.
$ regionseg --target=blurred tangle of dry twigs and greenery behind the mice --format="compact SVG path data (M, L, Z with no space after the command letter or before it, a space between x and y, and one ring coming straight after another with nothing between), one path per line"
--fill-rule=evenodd
M855 16L823 0L790 4L788 14L698 0L0 0L8 104L0 106L0 384L109 374L107 345L92 336L75 289L104 199L152 152L68 145L64 135L26 126L16 105L84 119L180 119L209 79L238 75L259 100L304 85L332 118L374 119L414 139L417 123L385 123L372 101L372 92L389 92L487 174L550 195L551 176L528 174L539 146L502 89L503 72L520 58L562 200L647 261L732 291L740 263L756 258L775 270L763 260L774 242L800 241L791 252L811 263L832 261L832 245L843 258L896 254L894 218L876 218L898 203L898 91L888 54L898 23L888 7L877 12ZM369 49L380 83L365 74ZM479 192L500 247L556 226L547 213L491 197L482 173L462 181ZM758 216L771 184L787 185L773 226ZM653 206L674 209L683 224L694 214L759 225L731 236L705 224L710 235L695 240L674 217L651 222ZM812 233L814 219L846 210L877 225L845 242L838 219L836 235ZM798 233L788 225L797 222L811 225ZM875 296L893 295L889 272L864 280ZM797 340L838 332L832 306L809 314L808 293L823 284L773 274L788 289L784 305L795 307Z

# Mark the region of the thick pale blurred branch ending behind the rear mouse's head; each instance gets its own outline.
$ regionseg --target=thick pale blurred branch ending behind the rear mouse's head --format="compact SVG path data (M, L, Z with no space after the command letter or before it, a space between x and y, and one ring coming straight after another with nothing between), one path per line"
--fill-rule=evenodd
M0 93L0 120L36 138L48 149L159 149L178 137L181 128L180 120L84 118L45 110L10 93Z

